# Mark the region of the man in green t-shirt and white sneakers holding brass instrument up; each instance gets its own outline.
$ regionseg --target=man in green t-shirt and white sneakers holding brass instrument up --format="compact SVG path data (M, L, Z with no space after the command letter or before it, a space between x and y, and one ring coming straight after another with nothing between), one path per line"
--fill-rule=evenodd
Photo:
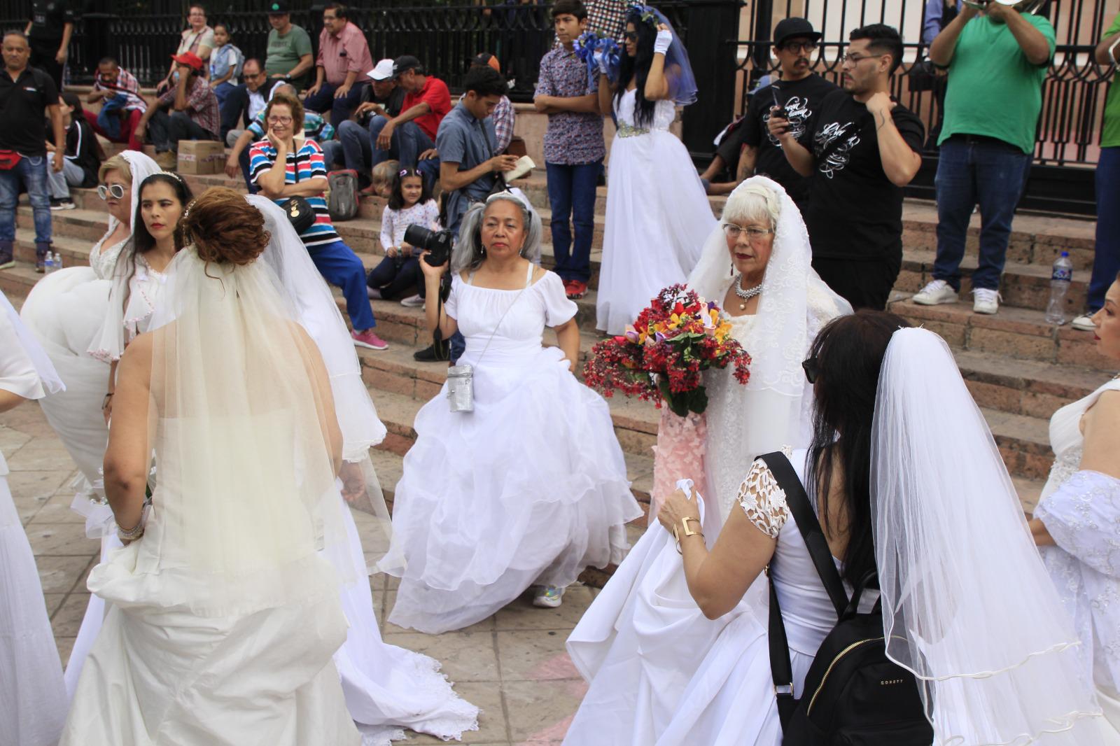
M930 46L949 68L945 122L937 144L937 258L933 281L914 296L925 306L956 302L969 218L980 207L980 264L972 274L972 310L995 314L999 280L1023 194L1042 86L1054 56L1054 27L1017 6L964 3Z

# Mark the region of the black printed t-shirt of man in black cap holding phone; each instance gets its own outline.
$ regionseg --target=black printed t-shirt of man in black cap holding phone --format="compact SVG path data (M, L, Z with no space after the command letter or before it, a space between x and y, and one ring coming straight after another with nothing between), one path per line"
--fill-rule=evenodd
M747 116L743 121L743 141L757 148L755 174L768 176L788 193L802 211L809 197L809 180L803 178L785 159L782 143L766 128L769 111L774 105L783 105L790 114L790 130L801 140L805 128L821 100L837 86L820 75L813 74L800 81L778 81L759 88L750 99ZM775 104L775 101L777 104Z

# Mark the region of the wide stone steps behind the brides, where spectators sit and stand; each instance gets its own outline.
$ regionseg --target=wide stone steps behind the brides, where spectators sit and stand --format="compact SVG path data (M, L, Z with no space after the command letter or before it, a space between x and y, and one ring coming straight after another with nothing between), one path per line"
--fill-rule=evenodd
M115 151L120 146L110 146ZM240 179L224 175L187 176L195 194L212 186L244 190ZM551 221L544 176L535 172L520 186L536 205L544 223L543 263L553 262ZM92 189L75 189L77 209L54 213L55 248L65 265L85 264L90 246L103 234L106 215ZM713 214L722 208L724 197L711 197ZM366 265L380 261L382 249L380 217L384 202L363 199L353 221L337 223L343 240ZM581 357L600 338L595 330L595 289L601 257L606 189L600 187L596 204L591 291L578 301L577 319L581 330ZM9 296L25 296L41 276L35 274L34 231L30 207L18 209L17 260L15 268L0 270L0 288ZM956 355L961 373L977 403L991 426L992 433L1015 478L1025 507L1030 510L1049 469L1052 454L1047 421L1058 407L1072 402L1100 385L1114 363L1099 355L1091 333L1045 324L1043 310L1049 293L1049 265L1060 251L1068 251L1075 267L1068 305L1080 311L1085 296L1093 254L1093 223L1054 216L1020 215L1008 252L1001 293L1005 305L996 316L972 314L967 295L953 305L922 307L907 298L926 281L936 248L936 211L932 204L908 201L904 211L904 260L895 287L892 310L914 324L942 335ZM973 221L969 239L971 258L965 260L968 276L976 265L974 245L979 223ZM971 264L970 264L971 262ZM969 290L968 277L964 282ZM342 297L336 291L342 305ZM404 308L393 301L371 301L377 318L377 333L390 342L385 352L360 349L363 376L389 429L389 437L376 453L377 467L386 497L401 473L401 459L416 438L412 423L419 408L436 395L446 377L446 364L417 363L412 353L430 339L419 308ZM549 338L547 337L547 341ZM648 404L615 398L608 400L615 431L626 455L627 469L638 500L648 503L659 412ZM945 437L952 437L946 432ZM644 519L638 521L644 524Z

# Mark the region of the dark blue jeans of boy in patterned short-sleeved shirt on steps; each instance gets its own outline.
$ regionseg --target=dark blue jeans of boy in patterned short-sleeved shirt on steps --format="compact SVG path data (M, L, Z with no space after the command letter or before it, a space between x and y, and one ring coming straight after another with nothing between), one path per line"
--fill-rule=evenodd
M556 254L556 272L561 280L587 282L591 277L595 187L601 167L601 160L578 166L544 164L552 206L552 253ZM568 224L569 216L571 225ZM575 245L572 226L576 229Z

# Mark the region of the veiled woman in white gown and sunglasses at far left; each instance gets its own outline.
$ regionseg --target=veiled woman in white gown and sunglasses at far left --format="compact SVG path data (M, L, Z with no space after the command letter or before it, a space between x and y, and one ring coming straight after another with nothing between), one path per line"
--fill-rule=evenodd
M109 365L90 356L88 348L109 304L116 260L132 237L137 194L132 188L160 170L156 161L137 150L125 150L101 165L97 196L109 212L109 229L90 251L88 267L67 267L39 280L31 289L20 316L43 345L66 391L40 401L43 411L84 477L82 500L75 505L103 500L101 464L109 431L101 414Z

